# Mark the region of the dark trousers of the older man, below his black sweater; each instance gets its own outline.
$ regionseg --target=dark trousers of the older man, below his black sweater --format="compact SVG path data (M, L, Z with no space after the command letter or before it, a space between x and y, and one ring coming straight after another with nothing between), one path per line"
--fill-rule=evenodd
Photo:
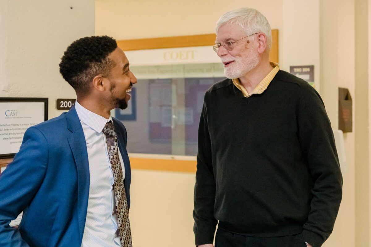
M306 247L303 234L281 237L249 237L218 228L215 247Z

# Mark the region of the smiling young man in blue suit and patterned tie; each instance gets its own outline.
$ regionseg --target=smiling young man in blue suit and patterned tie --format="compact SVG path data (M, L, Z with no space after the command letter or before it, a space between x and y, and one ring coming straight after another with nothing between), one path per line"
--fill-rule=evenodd
M127 132L110 111L127 107L137 79L107 36L76 40L59 66L77 101L30 127L1 173L0 246L131 247Z

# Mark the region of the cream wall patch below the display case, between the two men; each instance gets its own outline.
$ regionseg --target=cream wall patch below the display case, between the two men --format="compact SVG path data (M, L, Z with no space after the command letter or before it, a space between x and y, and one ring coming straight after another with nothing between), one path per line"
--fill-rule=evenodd
M194 173L132 170L130 223L136 247L194 246Z

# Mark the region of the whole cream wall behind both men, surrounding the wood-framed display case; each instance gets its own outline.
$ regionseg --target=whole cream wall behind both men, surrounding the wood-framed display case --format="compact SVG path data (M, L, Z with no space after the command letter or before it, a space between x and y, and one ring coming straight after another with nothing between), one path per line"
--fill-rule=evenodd
M355 1L96 0L96 34L108 34L120 40L213 33L216 20L225 11L256 8L267 17L272 28L279 29L282 69L288 70L290 65L315 65L316 89L336 129L338 87L349 89L353 97L353 122L358 121ZM359 112L367 113L368 109L366 104ZM356 204L360 205L360 201L355 199L355 126L352 133L344 134L347 169L343 174L343 201L334 231L324 247L356 246ZM194 174L133 170L131 219L136 246L193 244L193 186ZM368 198L368 194L361 195ZM157 196L160 200L156 201ZM163 238L164 232L167 235ZM360 242L358 246L368 245Z

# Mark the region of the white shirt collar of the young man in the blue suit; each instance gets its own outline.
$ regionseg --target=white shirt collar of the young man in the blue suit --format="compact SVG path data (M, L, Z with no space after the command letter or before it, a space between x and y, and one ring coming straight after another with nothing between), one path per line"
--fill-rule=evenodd
M111 116L109 116L109 118L106 119L96 113L93 113L92 111L89 111L81 104L79 104L77 100L75 102L75 109L77 115L79 116L80 121L82 121L84 124L86 124L87 126L89 126L98 133L102 132L107 122L112 121Z

